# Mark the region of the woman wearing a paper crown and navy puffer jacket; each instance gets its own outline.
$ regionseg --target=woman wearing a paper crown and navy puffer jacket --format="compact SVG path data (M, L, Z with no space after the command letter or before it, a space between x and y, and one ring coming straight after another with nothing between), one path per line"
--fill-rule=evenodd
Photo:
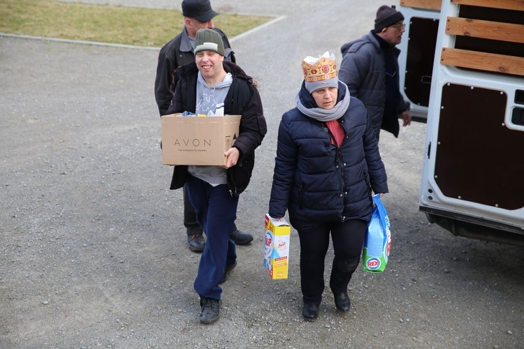
M365 107L338 81L333 55L324 56L303 61L297 107L282 116L268 211L283 218L288 210L298 231L305 320L319 313L330 235L335 251L330 288L337 310L349 311L347 285L361 258L371 191L388 192Z

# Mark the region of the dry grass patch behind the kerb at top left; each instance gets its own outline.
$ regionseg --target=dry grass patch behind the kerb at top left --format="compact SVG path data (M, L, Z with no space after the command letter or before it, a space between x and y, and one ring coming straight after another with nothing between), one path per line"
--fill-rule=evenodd
M161 47L182 31L180 10L56 0L0 0L0 33ZM221 14L214 25L233 38L270 17Z

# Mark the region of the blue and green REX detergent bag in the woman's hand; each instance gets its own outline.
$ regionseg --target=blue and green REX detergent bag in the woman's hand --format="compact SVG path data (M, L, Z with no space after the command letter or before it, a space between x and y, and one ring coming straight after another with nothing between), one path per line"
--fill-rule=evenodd
M367 225L362 265L366 272L380 273L386 269L391 248L388 212L379 194L373 196L373 212Z

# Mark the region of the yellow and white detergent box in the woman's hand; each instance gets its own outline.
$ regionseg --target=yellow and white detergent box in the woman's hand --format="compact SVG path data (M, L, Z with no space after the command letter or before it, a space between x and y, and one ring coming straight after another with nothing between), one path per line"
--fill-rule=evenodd
M291 227L265 214L264 267L271 279L287 279Z

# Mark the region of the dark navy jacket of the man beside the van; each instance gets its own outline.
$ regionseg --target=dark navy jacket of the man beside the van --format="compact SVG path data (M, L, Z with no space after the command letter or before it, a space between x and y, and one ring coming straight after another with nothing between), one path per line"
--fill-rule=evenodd
M393 57L395 57L395 80L398 87L397 58L400 50L397 47L391 47L391 50ZM338 78L347 84L351 96L364 103L375 133L379 135L380 128L382 128L398 137L400 130L398 115L409 110L409 103L404 101L400 91L395 91L397 94L395 107L397 117L393 116L393 119L383 122L386 104L386 66L384 52L377 38L369 32L358 40L345 43L340 51L342 52L342 63L340 64Z

